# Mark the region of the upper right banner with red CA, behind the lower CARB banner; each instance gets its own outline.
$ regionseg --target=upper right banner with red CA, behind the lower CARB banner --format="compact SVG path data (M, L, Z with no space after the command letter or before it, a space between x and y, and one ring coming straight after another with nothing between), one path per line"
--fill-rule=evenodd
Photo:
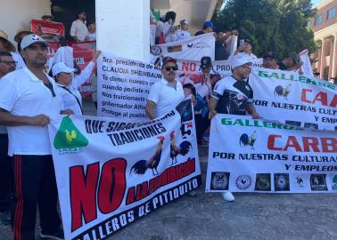
M296 72L253 68L249 83L260 116L337 131L337 85Z

